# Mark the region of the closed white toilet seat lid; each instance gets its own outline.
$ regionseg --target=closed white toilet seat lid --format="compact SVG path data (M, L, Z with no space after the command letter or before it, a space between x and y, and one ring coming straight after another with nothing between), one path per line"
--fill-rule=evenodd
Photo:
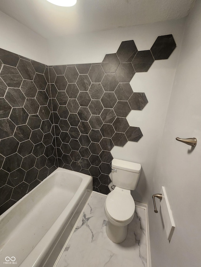
M106 198L105 209L107 214L117 222L130 221L135 212L135 202L130 190L116 186Z

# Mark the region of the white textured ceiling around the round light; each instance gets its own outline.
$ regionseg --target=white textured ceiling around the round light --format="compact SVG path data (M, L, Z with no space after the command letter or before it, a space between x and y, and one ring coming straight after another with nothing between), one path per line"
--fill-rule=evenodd
M183 18L194 0L77 0L59 7L46 0L0 0L0 10L44 38Z

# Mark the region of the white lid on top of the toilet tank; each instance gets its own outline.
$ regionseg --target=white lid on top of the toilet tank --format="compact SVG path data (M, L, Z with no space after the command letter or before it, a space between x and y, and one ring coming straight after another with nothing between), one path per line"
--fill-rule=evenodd
M112 160L112 168L129 171L129 172L140 173L141 164L114 158Z

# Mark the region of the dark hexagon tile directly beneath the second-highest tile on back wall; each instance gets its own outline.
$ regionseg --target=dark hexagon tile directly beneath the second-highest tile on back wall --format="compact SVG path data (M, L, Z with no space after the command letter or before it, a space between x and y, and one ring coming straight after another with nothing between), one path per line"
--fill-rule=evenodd
M121 63L115 74L120 83L129 83L133 78L135 71L131 63Z

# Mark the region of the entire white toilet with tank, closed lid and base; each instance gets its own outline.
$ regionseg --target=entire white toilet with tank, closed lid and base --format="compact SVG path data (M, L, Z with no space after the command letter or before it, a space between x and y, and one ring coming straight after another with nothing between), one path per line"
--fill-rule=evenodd
M119 159L112 160L112 183L115 189L105 201L105 214L108 219L106 234L114 243L126 239L128 224L135 212L135 202L131 190L137 186L141 164Z

